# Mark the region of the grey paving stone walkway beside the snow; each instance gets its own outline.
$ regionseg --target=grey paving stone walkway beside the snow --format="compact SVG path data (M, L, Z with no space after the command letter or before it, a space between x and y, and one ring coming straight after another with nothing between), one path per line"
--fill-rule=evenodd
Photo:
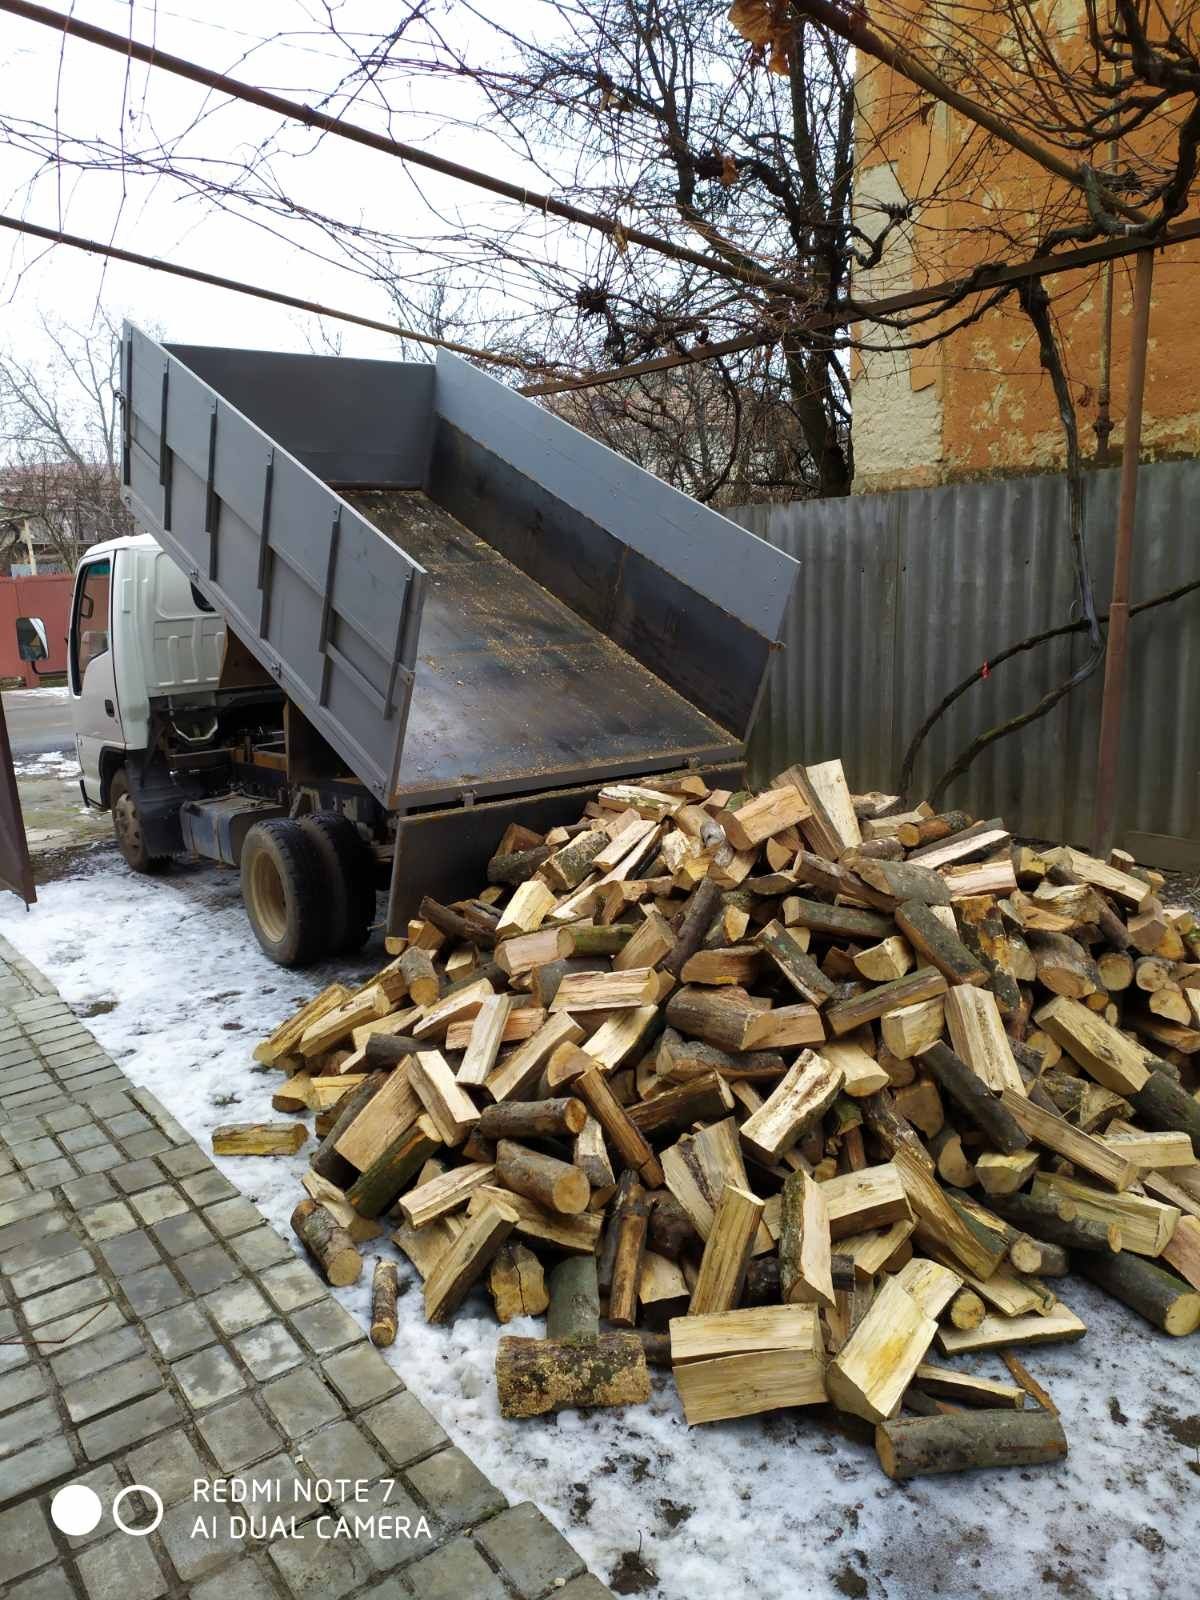
M90 1533L51 1522L69 1483ZM162 1501L144 1536L114 1522L157 1518L133 1485ZM0 1595L610 1595L3 939Z

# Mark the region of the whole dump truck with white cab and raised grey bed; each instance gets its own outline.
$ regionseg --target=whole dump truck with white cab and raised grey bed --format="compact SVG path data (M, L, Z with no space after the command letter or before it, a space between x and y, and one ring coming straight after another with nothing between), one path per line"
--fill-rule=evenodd
M482 877L600 786L736 786L797 563L448 352L126 325L138 533L74 587L83 798L138 872L237 867L282 965Z

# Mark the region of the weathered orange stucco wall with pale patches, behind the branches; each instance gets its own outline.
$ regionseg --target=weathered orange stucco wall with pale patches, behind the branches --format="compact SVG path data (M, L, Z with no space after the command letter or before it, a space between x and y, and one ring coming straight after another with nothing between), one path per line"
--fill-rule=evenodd
M925 8L915 0L909 3L914 21L907 42L936 66L938 54L922 19ZM888 6L893 22L896 10L893 0ZM938 10L942 22L954 11ZM1078 0L1048 0L1040 10L1064 58L1085 50ZM973 6L971 14L978 19L979 8ZM877 62L864 61L859 69L858 130L859 226L877 234L885 219L882 203L915 203L912 221L891 235L880 266L856 274L854 291L861 298L955 277L979 261L1026 259L1048 226L1082 214L1082 202L1067 186L1026 155L986 139L966 118L918 94ZM1146 141L1157 146L1160 158L1170 158L1168 126L1149 130ZM1144 160L1136 149L1125 154L1133 165ZM1200 454L1198 266L1200 245L1181 245L1157 258L1144 459ZM1117 459L1133 259L1118 261L1112 274L1110 414L1117 426L1110 459ZM1102 269L1046 278L1046 288L1054 301L1082 445L1094 458ZM920 334L941 331L958 315L946 314ZM875 346L853 358L856 491L1061 466L1062 429L1050 381L1040 371L1032 326L1014 298L926 350L901 349L898 334L867 326L856 328L856 334Z

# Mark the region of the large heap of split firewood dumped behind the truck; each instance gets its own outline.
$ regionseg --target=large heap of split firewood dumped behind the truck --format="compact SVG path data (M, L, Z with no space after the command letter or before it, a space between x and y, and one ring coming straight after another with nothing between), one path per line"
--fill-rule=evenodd
M840 762L613 784L258 1046L323 1136L293 1227L333 1283L387 1229L430 1322L480 1282L502 1323L547 1312L499 1339L510 1418L659 1365L690 1422L864 1419L898 1478L1056 1459L1013 1350L1083 1334L1067 1272L1200 1325L1200 925L1162 886ZM373 1288L389 1342L395 1261Z

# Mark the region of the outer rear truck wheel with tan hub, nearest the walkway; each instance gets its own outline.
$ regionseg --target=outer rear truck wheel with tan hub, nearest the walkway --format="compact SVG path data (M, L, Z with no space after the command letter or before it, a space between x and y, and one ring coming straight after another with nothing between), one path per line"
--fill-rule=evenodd
M242 899L254 938L278 966L328 949L325 874L309 835L286 818L254 822L242 845Z

